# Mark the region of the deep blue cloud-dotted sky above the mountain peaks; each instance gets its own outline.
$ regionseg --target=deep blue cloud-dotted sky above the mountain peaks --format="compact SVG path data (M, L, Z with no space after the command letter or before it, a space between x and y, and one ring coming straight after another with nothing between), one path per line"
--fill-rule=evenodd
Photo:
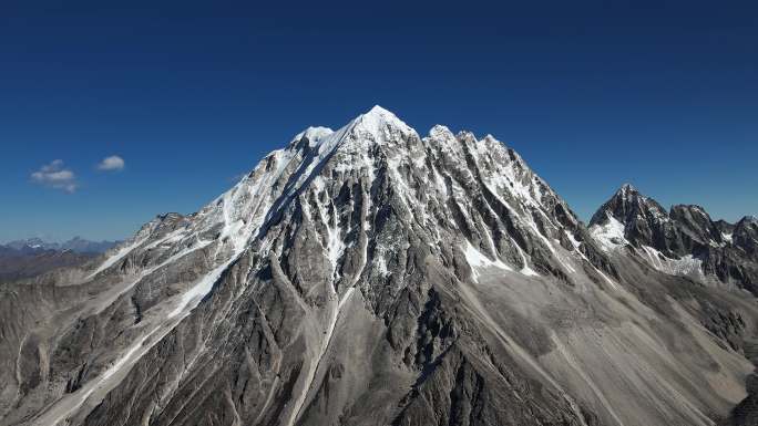
M758 214L755 1L253 3L3 1L0 241L124 238L373 104L492 133L585 219L624 181Z

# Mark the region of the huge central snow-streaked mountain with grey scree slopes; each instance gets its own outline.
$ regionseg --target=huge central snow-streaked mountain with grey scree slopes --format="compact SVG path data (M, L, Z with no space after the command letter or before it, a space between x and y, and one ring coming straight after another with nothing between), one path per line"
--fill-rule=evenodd
M0 289L0 424L728 420L755 301L605 241L493 137L375 107Z

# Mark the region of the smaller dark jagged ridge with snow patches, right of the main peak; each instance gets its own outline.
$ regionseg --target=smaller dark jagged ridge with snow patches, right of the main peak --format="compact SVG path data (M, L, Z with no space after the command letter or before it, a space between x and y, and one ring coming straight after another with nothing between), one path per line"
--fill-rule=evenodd
M703 207L673 206L624 185L590 221L607 250L626 248L653 268L707 283L758 291L758 226L747 216L737 224L714 221Z

